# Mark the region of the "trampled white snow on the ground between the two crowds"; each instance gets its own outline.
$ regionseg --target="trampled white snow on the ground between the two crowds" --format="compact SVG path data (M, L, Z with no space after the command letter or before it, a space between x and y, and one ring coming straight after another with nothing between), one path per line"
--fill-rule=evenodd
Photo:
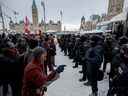
M91 88L84 86L83 83L78 80L82 77L78 73L81 70L81 66L77 69L73 69L72 60L67 56L64 56L60 49L57 47L56 64L65 64L67 67L61 74L60 78L48 87L48 96L89 96ZM108 79L98 82L99 96L106 96L108 90Z

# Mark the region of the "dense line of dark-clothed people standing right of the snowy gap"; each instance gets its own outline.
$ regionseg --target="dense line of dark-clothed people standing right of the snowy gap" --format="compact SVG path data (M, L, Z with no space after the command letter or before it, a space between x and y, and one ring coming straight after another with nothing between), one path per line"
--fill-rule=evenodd
M67 34L58 37L59 47L73 60L73 68L82 66L80 82L91 86L98 96L98 81L109 75L107 96L128 96L128 37L121 28L107 34ZM106 66L110 64L110 72Z

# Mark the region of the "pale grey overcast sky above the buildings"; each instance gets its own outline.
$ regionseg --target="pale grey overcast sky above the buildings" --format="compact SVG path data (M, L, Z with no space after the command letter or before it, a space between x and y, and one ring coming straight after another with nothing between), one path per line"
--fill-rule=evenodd
M28 16L31 21L31 6L33 0L0 0L4 3L6 14L12 16L10 9L19 12L18 20ZM38 7L39 19L43 17L41 1L46 3L47 21L60 19L60 10L63 10L63 23L65 25L79 25L82 16L86 20L92 14L102 14L107 12L108 0L35 0ZM128 1L128 0L126 0ZM125 4L126 5L126 4Z

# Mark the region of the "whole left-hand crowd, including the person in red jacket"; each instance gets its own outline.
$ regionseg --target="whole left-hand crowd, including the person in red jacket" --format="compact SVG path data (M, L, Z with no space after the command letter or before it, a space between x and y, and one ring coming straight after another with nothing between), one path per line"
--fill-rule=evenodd
M64 71L65 65L55 65L55 55L53 35L2 33L0 85L3 96L8 96L8 85L12 96L44 96L47 86Z

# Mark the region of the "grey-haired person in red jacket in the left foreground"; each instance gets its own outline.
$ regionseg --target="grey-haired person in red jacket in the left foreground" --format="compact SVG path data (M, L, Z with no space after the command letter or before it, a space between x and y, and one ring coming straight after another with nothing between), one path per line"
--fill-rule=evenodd
M45 74L44 61L47 52L41 47L33 51L33 59L25 67L23 76L22 96L43 96L44 88L59 78L57 70Z

